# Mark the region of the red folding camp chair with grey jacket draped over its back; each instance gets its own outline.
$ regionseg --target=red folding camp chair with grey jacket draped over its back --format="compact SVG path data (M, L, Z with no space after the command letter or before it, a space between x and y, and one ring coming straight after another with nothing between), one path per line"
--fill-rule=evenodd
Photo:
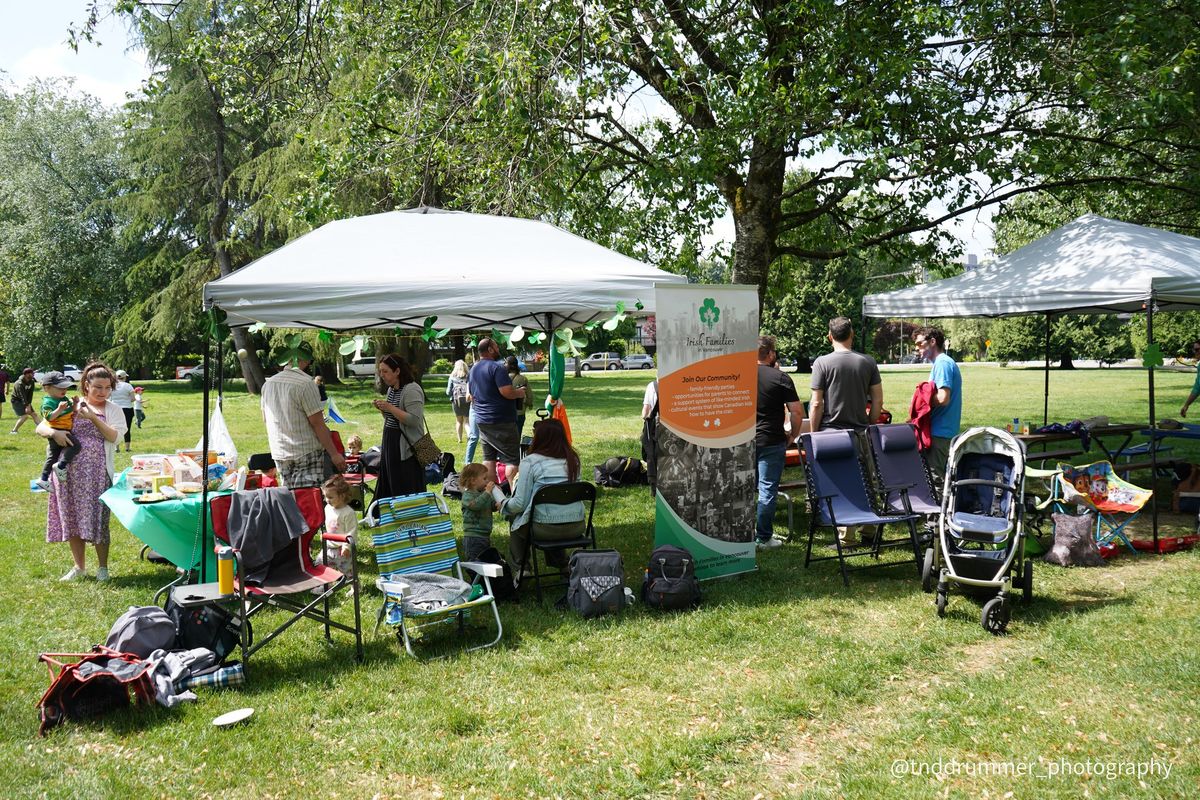
M258 489L258 492L287 492L287 489ZM250 492L240 494L251 494ZM246 581L245 563L241 552L234 549L236 559L236 577L234 579L234 593L232 596L212 596L206 602L234 601L241 606L241 660L247 662L250 656L272 640L283 631L299 622L301 619L311 619L320 622L325 628L325 639L331 640L331 628L346 631L354 634L354 652L359 661L362 661L362 626L359 613L358 570L355 569L355 542L354 536L340 536L325 534L323 539L330 542L348 545L350 548L350 573L343 575L337 570L316 565L312 563L310 547L313 536L320 529L325 516L325 500L320 489L305 488L294 489L292 497L305 521L305 531L298 539L281 548L271 560L271 567L265 579L260 584L250 584ZM218 494L210 500L210 516L212 519L212 534L217 541L229 545L229 509L233 505L233 494ZM215 584L204 584L212 587ZM179 606L197 604L204 601L204 593L197 591L196 587L175 587L172 589L172 600ZM340 622L332 618L330 601L340 591L349 590L354 597L354 625ZM275 630L265 637L252 640L253 633L250 627L251 618L268 608L284 612L288 616ZM262 622L259 622L262 631Z

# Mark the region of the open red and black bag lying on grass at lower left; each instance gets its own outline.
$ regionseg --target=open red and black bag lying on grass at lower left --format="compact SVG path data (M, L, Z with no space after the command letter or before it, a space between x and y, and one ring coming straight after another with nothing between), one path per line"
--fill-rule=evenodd
M50 687L37 703L40 736L65 720L85 720L125 708L131 692L137 704L154 703L150 663L132 654L97 644L91 652L43 652L37 658L50 670Z

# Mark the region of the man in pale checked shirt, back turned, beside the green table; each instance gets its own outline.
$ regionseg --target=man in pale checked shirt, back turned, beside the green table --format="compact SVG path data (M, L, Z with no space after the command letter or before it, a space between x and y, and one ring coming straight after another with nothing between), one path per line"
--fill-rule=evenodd
M263 421L278 476L289 489L320 487L346 469L346 456L325 425L320 392L305 373L312 345L301 342L295 366L284 367L263 384Z

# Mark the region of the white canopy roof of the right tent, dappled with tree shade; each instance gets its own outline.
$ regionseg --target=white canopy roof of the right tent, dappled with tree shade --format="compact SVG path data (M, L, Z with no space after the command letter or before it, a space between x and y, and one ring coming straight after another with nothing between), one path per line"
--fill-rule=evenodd
M864 317L1010 317L1200 307L1200 239L1085 215L991 264L863 297Z

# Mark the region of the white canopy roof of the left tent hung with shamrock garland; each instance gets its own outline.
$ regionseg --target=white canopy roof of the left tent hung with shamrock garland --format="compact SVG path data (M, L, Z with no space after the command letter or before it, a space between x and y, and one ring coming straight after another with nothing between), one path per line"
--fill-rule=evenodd
M389 211L312 230L204 287L232 325L545 330L654 311L655 283L686 283L534 219Z

